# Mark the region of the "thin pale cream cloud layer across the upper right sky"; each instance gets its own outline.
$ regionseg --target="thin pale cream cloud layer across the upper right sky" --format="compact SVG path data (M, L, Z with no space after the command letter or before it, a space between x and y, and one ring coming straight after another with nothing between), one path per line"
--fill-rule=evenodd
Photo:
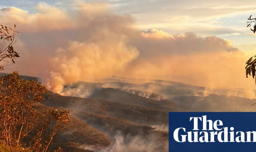
M223 35L226 30L232 33L246 30L238 20L247 19L255 12L255 7L247 3L228 0L205 2L196 0L169 1L111 1L116 12L128 13L137 19L136 26L142 30L162 29L169 33L184 33L188 29L200 35ZM134 5L136 3L136 5ZM141 9L143 6L143 9ZM236 21L237 20L237 21ZM233 22L234 21L234 22ZM220 31L223 30L223 32Z

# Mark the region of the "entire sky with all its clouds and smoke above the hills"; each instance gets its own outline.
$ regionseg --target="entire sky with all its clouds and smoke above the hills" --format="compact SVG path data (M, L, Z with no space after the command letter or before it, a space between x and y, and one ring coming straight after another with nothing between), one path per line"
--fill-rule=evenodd
M221 88L255 88L245 77L255 35L254 1L1 1L0 20L22 31L10 72L62 92L111 75Z

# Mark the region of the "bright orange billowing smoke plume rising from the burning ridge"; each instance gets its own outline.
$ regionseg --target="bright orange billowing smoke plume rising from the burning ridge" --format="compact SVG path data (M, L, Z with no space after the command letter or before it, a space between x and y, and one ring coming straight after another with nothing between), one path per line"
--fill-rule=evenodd
M127 47L123 39L124 37L118 37L107 41L103 38L97 43L73 41L66 50L59 48L56 57L52 59L53 65L59 66L50 72L46 79L47 87L60 93L65 84L84 78L94 80L122 69L138 55L137 50Z

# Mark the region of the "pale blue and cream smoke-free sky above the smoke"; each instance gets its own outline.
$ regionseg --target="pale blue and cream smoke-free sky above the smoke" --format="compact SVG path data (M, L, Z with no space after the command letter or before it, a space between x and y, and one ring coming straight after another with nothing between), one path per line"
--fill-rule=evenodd
M2 0L0 8L17 7L36 12L38 0ZM52 6L72 9L73 0L42 1ZM107 3L117 14L129 14L141 30L151 28L172 34L193 31L200 36L218 36L232 41L242 51L253 51L255 36L249 35L247 18L256 14L255 1L233 0L90 0L76 2ZM79 5L79 4L78 4Z

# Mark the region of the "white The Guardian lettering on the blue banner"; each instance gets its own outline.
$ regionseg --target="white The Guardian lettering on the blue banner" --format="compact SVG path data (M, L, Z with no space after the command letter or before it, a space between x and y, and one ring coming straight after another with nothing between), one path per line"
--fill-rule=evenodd
M192 131L180 127L174 130L173 138L177 142L256 142L256 131L235 131L234 127L224 127L221 120L208 120L207 116L190 117ZM202 130L198 126L202 126ZM256 128L255 128L256 130ZM251 136L253 138L251 139Z

